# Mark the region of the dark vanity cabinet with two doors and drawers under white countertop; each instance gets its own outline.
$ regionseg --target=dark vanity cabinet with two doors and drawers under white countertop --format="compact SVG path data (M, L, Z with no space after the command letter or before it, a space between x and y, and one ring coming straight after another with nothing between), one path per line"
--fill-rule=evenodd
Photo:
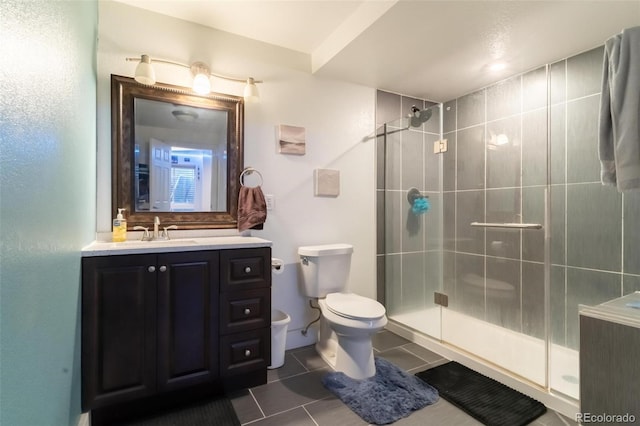
M255 262L251 271L260 270L259 295L221 291L225 262L237 259ZM83 411L194 387L233 387L233 380L222 380L229 374L220 362L227 353L221 331L229 301L246 299L231 311L248 310L244 319L251 325L241 330L255 334L243 337L242 344L232 339L242 346L237 351L249 353L240 372L253 381L264 376L266 382L270 262L268 247L84 257Z

